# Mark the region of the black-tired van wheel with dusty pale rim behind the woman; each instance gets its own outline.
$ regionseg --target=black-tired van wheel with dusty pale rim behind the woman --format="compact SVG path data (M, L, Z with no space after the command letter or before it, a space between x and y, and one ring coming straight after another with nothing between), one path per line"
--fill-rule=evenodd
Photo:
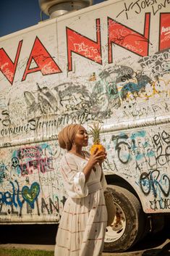
M137 197L127 189L114 185L109 185L108 189L114 195L116 216L106 228L104 251L124 252L143 235L145 213Z

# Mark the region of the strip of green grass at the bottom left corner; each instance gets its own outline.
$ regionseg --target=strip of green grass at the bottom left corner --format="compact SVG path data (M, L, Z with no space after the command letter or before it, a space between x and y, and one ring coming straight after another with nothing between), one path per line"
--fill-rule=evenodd
M54 256L53 251L39 249L4 249L0 248L0 256Z

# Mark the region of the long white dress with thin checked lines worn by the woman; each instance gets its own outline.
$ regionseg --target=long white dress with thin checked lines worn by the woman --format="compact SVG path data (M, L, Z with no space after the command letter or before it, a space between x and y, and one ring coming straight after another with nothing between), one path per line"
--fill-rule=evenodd
M71 152L61 159L61 174L68 198L56 234L55 256L99 256L103 251L107 210L103 189L106 179L101 167L95 165L88 181L82 172L85 160Z

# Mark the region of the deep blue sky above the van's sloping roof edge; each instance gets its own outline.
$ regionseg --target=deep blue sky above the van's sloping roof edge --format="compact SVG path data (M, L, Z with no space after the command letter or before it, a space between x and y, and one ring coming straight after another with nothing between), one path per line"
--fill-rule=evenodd
M103 0L93 0L98 4ZM38 0L1 0L0 37L41 21L41 9ZM48 16L42 15L43 20Z

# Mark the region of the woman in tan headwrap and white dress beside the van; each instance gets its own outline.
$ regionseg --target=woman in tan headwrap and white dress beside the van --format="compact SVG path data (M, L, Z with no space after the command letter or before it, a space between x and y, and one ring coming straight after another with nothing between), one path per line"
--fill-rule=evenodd
M67 149L61 174L68 198L56 236L55 256L99 256L103 251L107 211L103 189L106 179L101 164L106 152L90 155L88 133L81 125L67 125L59 133L59 145Z

